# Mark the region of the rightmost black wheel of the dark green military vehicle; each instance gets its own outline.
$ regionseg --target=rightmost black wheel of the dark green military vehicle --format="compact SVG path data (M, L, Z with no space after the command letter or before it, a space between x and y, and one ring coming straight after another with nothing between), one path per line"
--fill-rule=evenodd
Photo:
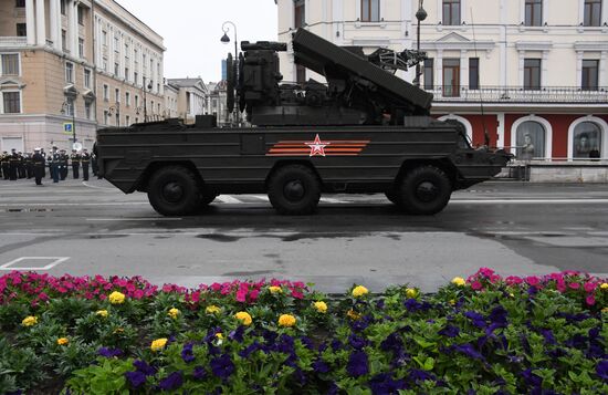
M434 166L417 167L406 174L399 188L403 209L413 215L441 211L452 195L452 185L443 170Z

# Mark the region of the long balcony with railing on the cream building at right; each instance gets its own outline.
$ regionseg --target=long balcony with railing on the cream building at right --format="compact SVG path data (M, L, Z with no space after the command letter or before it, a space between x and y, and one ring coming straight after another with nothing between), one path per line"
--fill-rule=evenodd
M460 86L434 86L426 90L438 103L490 103L490 104L606 104L608 86L583 90L575 86L546 86L526 90L521 86L481 86L478 90Z

